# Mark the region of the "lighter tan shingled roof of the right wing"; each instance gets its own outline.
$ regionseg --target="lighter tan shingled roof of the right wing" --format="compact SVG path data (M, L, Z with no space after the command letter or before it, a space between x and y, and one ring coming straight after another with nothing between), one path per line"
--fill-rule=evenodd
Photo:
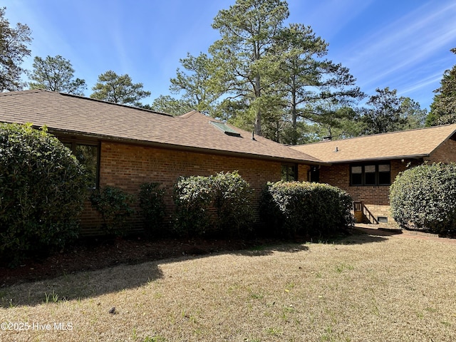
M448 139L456 140L456 124L293 146L294 150L329 162L356 162L428 157Z

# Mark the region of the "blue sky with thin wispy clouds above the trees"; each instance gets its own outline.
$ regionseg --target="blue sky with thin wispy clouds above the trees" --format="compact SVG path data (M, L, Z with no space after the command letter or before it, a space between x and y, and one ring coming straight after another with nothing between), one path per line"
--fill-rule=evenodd
M34 56L61 55L90 95L98 75L128 73L152 103L170 94L180 58L207 52L219 38L214 16L235 0L3 0L6 18L32 30ZM290 23L310 25L328 59L350 69L368 95L375 88L429 108L444 71L456 64L454 0L289 0Z

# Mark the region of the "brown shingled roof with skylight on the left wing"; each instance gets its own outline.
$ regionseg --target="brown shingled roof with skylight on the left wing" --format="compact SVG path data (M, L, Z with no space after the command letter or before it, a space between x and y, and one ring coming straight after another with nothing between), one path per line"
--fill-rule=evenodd
M0 122L48 126L54 134L134 142L156 147L195 150L308 164L321 160L271 140L229 126L229 135L192 111L173 117L151 110L108 103L48 90L0 93ZM226 128L226 127L225 127Z

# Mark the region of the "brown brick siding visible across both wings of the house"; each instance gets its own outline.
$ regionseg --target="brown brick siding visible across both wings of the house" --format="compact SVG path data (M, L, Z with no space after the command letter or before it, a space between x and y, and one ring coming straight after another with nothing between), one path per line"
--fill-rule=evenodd
M136 195L142 183L160 182L165 188L165 203L170 215L174 210L172 187L179 176L208 176L217 172L238 170L254 189L254 205L259 203L261 190L266 182L275 182L281 177L281 162L247 157L167 150L115 142L102 142L100 156L100 187L120 187ZM456 141L447 140L425 160L455 162ZM422 162L421 159L391 160L391 182L399 172ZM309 170L309 165L299 165L300 181L308 180ZM389 186L351 186L350 163L321 166L320 182L340 187L348 192L354 201L363 202L375 218L386 216L388 222L394 224L390 215ZM100 225L100 216L90 208L90 204L86 204L81 223L88 234L95 233L96 227ZM140 227L140 217L135 216L131 223L135 227Z

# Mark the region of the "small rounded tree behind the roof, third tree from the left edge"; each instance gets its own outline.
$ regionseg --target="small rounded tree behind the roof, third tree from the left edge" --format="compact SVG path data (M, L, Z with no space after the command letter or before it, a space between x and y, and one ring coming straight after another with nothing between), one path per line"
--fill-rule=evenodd
M118 76L114 71L98 76L92 90L90 98L137 107L142 106L140 99L150 95L150 91L142 90L142 83L133 83L128 74Z

